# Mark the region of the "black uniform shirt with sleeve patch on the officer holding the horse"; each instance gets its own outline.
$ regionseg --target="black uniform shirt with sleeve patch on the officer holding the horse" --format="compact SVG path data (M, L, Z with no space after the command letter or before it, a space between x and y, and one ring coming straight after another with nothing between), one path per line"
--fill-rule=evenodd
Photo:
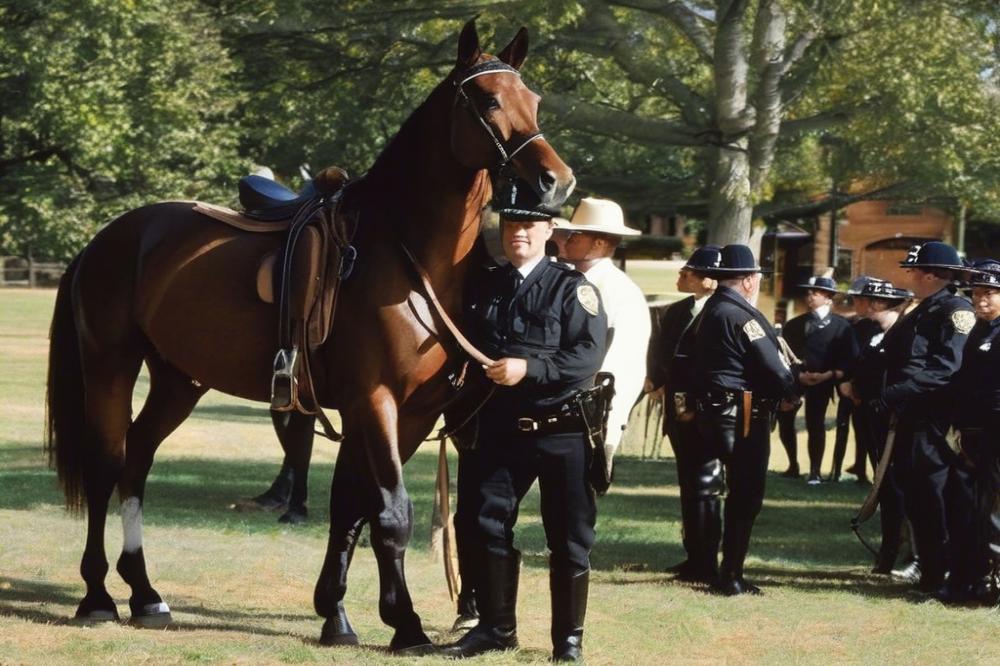
M528 362L518 384L497 387L482 412L487 419L552 412L594 385L607 351L608 320L582 273L545 258L511 293L519 275L511 265L497 268L470 298L473 344L493 359Z

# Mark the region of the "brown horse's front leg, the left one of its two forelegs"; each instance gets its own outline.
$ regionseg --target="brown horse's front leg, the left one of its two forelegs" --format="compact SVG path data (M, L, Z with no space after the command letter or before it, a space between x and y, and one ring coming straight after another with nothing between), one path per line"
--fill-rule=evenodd
M359 442L351 438L340 444L330 487L330 539L313 594L316 613L326 618L319 639L324 645L358 644L358 635L344 610L347 570L365 524L365 500L370 495L371 485L363 453L359 457L358 445Z

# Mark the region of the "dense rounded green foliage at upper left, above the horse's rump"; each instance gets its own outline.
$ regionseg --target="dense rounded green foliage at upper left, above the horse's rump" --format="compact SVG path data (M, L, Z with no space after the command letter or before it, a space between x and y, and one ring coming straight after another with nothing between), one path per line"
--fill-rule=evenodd
M0 26L4 252L65 259L129 208L232 191L241 97L197 2L15 1Z

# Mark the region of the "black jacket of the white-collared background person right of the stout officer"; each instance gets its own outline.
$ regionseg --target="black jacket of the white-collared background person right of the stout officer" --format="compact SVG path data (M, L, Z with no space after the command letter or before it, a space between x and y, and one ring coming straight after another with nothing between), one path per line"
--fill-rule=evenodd
M840 315L830 312L820 319L807 312L790 319L781 335L805 364L804 370L840 370L850 375L858 355L858 343L851 323Z

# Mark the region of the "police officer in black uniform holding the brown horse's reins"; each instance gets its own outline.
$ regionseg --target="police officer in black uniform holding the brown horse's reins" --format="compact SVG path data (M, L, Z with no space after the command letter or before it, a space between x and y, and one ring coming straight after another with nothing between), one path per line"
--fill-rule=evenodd
M463 488L475 489L463 520L472 516L478 537L480 622L445 649L451 656L517 646L521 558L513 530L536 478L551 553L552 656L582 655L597 509L588 426L576 397L594 384L608 324L594 286L545 256L552 230L551 221L508 215L501 236L510 264L493 271L470 299L470 338L496 359L484 367L496 391L480 411L473 464L460 472Z

